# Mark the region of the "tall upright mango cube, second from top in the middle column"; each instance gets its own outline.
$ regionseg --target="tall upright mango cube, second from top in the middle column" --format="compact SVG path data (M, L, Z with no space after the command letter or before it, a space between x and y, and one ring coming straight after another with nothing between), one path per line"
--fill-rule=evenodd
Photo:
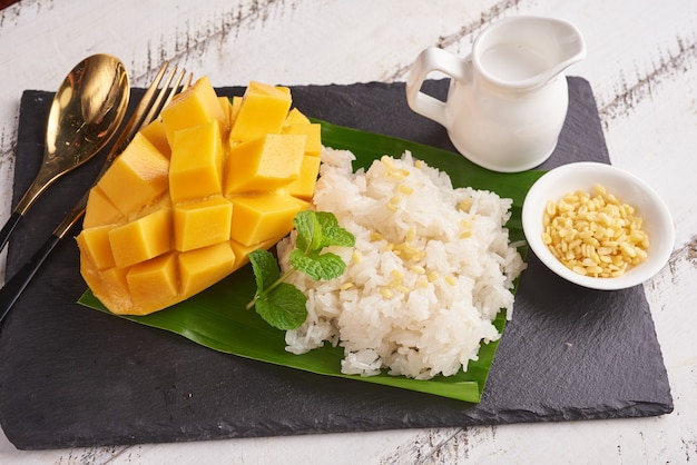
M173 204L219 195L222 174L223 141L216 122L177 131L169 167Z

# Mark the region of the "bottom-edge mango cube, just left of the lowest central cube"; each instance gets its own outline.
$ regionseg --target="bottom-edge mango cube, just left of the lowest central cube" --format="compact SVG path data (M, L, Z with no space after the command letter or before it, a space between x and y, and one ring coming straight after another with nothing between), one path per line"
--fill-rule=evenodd
M177 259L174 254L166 254L134 265L126 274L126 280L136 310L134 314L145 314L154 301L174 300L177 297Z

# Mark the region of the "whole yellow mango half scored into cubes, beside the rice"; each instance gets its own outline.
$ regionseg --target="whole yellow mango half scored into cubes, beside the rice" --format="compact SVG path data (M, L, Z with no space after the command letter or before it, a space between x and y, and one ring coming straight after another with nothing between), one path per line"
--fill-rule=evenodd
M200 293L251 251L273 247L308 207L318 128L288 109L287 88L253 82L245 97L217 97L199 79L90 191L77 237L80 273L110 311L148 315ZM235 133L247 140L232 137L237 121ZM257 154L263 164L235 158L240 145L266 139L276 155ZM229 189L233 166L245 166L247 179Z

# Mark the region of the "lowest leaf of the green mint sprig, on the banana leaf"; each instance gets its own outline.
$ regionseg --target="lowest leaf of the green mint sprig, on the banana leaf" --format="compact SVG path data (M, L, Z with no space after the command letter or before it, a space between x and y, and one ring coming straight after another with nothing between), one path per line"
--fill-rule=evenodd
M256 301L256 313L271 326L295 329L307 319L307 297L295 286L281 283Z

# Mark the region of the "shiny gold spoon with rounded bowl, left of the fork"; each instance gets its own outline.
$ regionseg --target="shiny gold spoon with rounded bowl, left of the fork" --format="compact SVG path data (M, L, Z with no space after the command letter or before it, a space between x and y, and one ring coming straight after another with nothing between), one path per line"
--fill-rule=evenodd
M51 103L41 168L0 230L0 251L37 198L107 145L126 115L129 97L128 73L116 57L94 55L70 71Z

